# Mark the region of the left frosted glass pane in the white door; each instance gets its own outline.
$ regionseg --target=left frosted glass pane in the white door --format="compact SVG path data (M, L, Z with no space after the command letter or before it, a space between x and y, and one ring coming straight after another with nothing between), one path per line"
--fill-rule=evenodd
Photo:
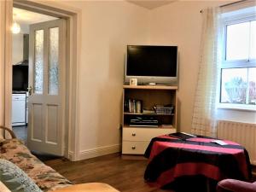
M44 30L35 32L34 92L43 94Z

